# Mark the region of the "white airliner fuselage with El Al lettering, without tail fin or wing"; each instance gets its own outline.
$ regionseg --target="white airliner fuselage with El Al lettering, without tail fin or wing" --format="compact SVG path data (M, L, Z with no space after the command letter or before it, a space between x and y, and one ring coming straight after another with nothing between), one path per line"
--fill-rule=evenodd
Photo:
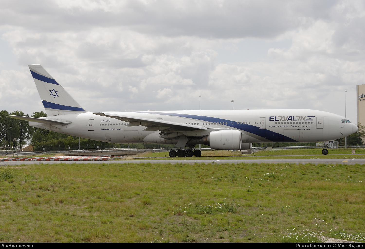
M207 130L178 131L188 138L195 138L196 141L207 136L211 131L225 129L242 131L242 143L320 142L346 137L357 131L357 126L353 123L341 122L341 120L346 120L343 116L306 109L128 111L108 112L108 114L206 127ZM50 116L45 119L71 123L58 126L29 122L29 125L109 143L174 143L173 140L166 137L167 135L161 137L160 130L146 130L146 127L141 125L128 126L128 122L90 112Z

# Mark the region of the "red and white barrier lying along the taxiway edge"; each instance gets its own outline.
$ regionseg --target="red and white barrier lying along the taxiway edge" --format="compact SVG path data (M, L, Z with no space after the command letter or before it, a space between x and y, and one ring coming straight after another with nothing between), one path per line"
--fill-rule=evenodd
M99 157L10 157L0 158L0 162L15 162L15 161L107 161L114 160L114 156L99 156Z

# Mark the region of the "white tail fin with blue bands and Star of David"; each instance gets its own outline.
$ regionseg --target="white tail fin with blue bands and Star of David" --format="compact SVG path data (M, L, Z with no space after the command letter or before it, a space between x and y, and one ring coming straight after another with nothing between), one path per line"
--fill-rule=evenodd
M28 66L47 116L86 112L41 65Z

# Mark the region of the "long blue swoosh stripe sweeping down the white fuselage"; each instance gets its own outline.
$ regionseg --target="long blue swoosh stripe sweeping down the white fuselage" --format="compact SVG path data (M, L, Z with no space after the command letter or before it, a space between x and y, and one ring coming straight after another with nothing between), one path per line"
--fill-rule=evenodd
M253 125L237 125L237 121L228 120L228 119L220 119L220 118L212 118L207 116L198 116L198 115L191 115L191 114L179 114L179 113L165 113L165 112L147 112L147 111L131 111L131 112L140 112L140 113L148 113L148 114L159 114L159 115L166 115L166 116L177 116L181 118L191 118L191 119L199 119L204 120L207 122L224 122L228 123L225 126L229 126L238 130L247 131L249 133L255 134L262 138L266 138L272 142L298 142L292 138L284 136L283 134L276 133L274 131L270 131L268 129L259 129L257 126ZM233 123L233 125L231 124ZM242 127L243 126L243 127Z

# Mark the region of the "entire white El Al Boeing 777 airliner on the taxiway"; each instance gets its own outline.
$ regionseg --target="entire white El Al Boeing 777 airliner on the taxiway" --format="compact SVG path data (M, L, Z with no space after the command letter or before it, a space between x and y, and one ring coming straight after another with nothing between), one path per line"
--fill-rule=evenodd
M193 149L198 144L218 150L248 150L252 143L332 141L358 130L343 116L306 109L88 112L41 65L28 66L47 117L8 117L102 142L180 148L171 150L170 157L199 157L201 151Z

